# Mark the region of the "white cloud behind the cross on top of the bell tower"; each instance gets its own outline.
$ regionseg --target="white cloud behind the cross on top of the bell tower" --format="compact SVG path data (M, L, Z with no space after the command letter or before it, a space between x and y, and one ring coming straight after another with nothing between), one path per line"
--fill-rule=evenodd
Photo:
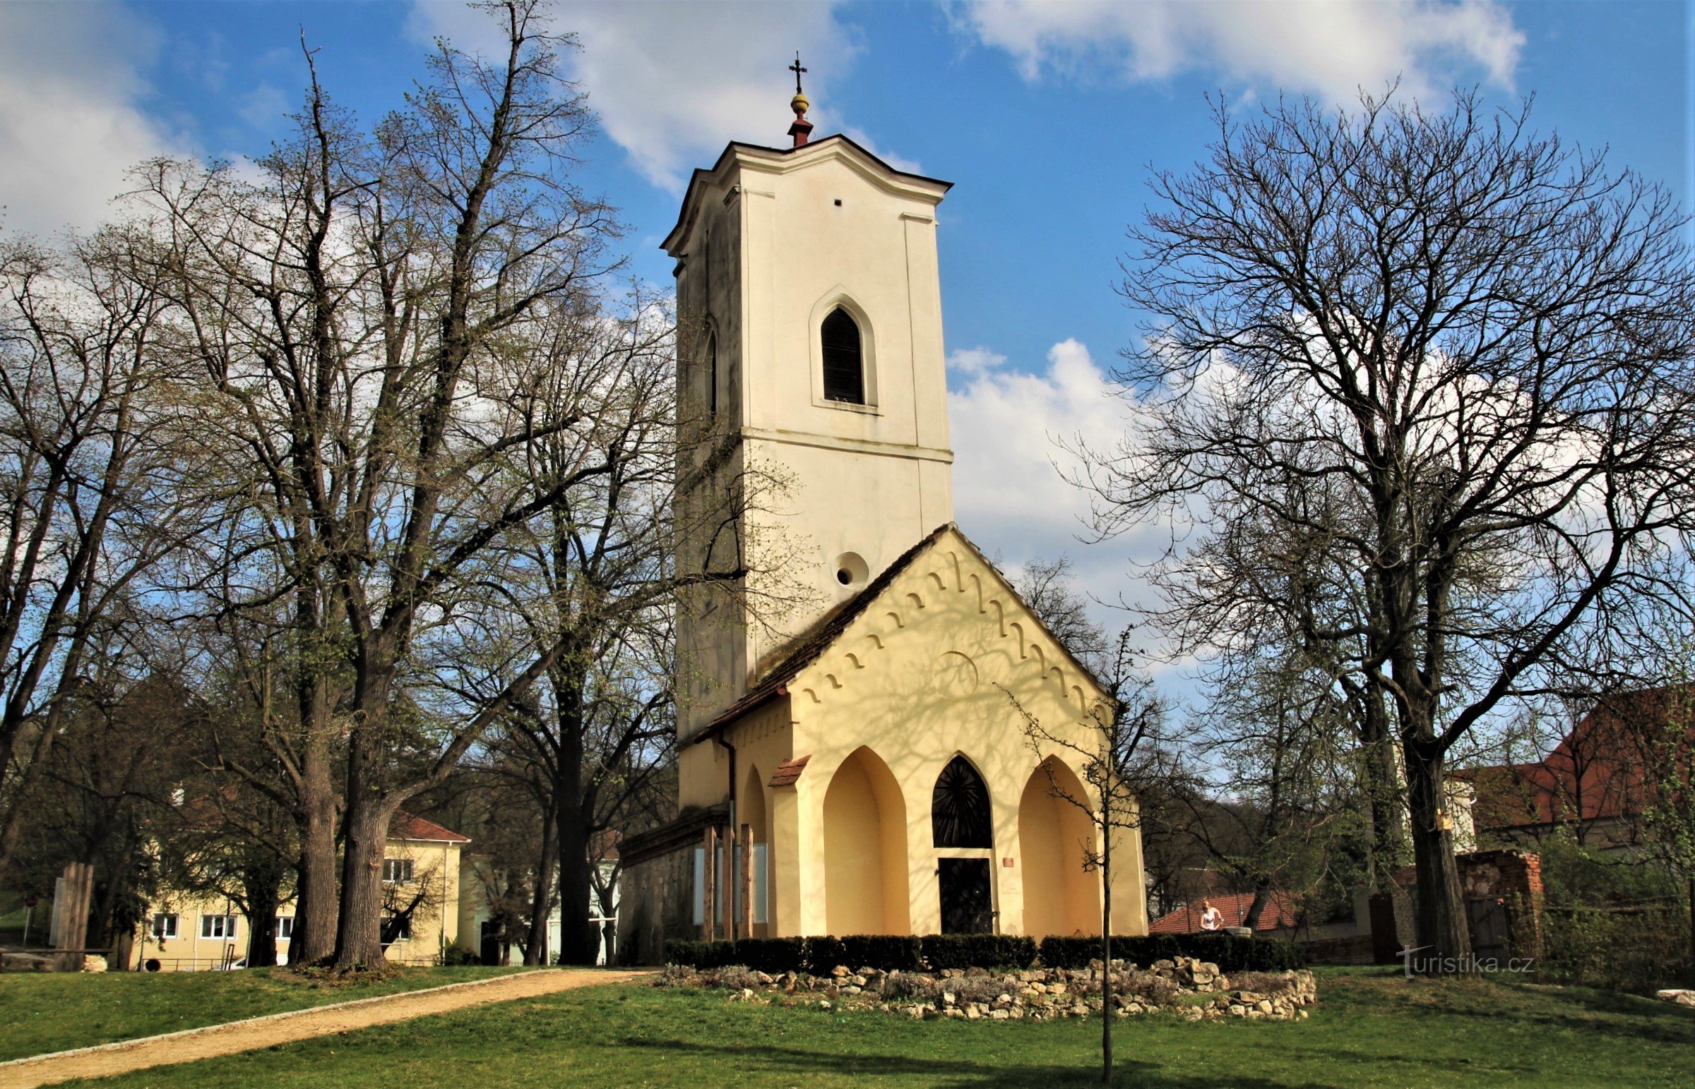
M795 78L785 66L797 49L814 103L807 119L820 135L839 130L831 86L859 49L832 3L561 3L554 27L575 32L583 46L568 58L570 71L607 135L647 180L670 190L680 190L688 171L710 164L729 141L788 142ZM461 47L493 44L485 15L446 0L419 0L412 30L424 39L446 36ZM876 154L897 169L917 166Z

